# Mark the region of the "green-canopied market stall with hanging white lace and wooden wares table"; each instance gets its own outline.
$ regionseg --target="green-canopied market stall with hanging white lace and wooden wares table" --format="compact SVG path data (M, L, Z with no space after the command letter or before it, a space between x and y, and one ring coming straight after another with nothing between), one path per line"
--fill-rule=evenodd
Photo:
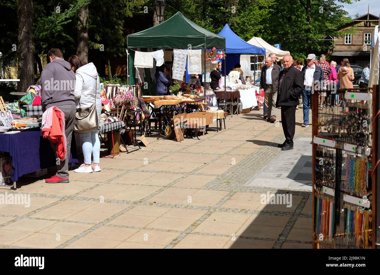
M154 74L155 66L160 66L168 59L173 60L172 78L181 83L186 65L190 73L203 74L203 79L206 78L206 51L208 53L214 47L225 49L225 38L199 27L182 13L177 12L159 25L128 35L127 46L130 83L141 83L144 80L144 72L149 71L150 75ZM141 52L142 49L147 51ZM200 90L201 87L192 91L189 88L187 94L153 102L152 96L144 99L146 103L152 104L151 114L157 115L161 135L173 137L175 132L173 116L201 108L199 107L202 106L201 101L206 97L200 96Z

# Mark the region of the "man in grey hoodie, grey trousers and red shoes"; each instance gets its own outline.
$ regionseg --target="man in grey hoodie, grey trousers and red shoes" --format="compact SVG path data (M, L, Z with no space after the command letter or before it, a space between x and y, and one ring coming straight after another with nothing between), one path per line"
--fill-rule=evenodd
M58 160L57 174L47 183L67 183L69 182L68 164L70 159L71 136L73 134L76 105L74 99L75 74L71 70L70 63L63 60L60 49L51 49L47 53L50 63L46 65L41 74L41 105L42 110L52 106L57 106L65 114L65 134L66 134L66 158ZM51 144L55 152L55 144ZM56 156L57 157L57 156Z

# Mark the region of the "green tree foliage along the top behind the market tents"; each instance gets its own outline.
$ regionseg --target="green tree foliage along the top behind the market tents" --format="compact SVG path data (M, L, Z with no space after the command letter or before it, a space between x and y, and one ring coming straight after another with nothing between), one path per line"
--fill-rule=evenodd
M201 27L218 33L227 23L242 39L259 36L281 44L294 58L327 52L329 36L351 21L342 4L356 0L166 0L165 17L181 11ZM76 53L78 10L89 5L89 60L125 56L127 35L152 27L154 0L34 0L36 53L59 47L65 56ZM17 53L17 0L0 2L0 62ZM60 12L57 13L57 7ZM180 32L180 30L178 30ZM101 51L103 47L103 51Z

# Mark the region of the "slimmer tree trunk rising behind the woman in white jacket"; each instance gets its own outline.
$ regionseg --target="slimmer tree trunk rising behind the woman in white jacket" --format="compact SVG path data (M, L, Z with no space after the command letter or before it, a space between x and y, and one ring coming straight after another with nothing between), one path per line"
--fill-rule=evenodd
M79 21L78 21L78 47L76 49L76 55L87 63L89 57L89 29L88 29L88 17L89 6L82 6L79 9Z

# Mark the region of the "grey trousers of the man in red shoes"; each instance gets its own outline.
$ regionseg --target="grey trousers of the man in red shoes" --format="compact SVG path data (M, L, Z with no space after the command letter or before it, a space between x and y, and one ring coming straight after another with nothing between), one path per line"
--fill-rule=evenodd
M63 179L69 178L69 160L70 160L70 148L71 148L71 137L73 134L74 119L76 106L75 105L62 105L57 106L65 114L65 134L66 134L66 158L65 160L59 160L57 158L55 143L50 143L51 148L53 148L55 158L57 160L57 176Z

